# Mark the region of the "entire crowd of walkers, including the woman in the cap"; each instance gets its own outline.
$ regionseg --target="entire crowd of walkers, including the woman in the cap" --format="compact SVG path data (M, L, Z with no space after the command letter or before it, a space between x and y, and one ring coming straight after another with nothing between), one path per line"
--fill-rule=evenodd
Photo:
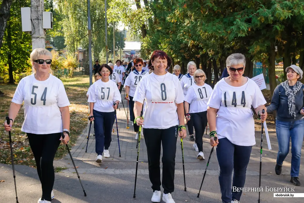
M38 203L49 203L54 198L53 160L60 142L69 143L69 100L61 80L52 74L52 55L47 49L34 49L30 54L34 73L23 78L15 91L8 116L6 131L12 130L15 118L24 102L22 131L29 139L42 196ZM231 54L226 59L226 76L212 88L205 83L206 74L189 62L187 73L175 65L169 73L172 61L161 50L155 50L150 60L133 57L127 64L117 60L115 64L94 65L95 83L88 88L89 119L94 121L96 162L109 158L112 127L121 92L126 92L130 119L135 140L142 127L147 147L148 171L153 190L152 202L174 203L174 171L176 142L187 135L198 152L197 159L204 160L203 134L209 124L210 145L216 147L219 163L219 186L223 203L238 203L245 184L246 170L252 146L256 144L254 113L261 122L268 113L277 111L276 133L278 155L274 167L281 174L282 164L289 153L291 140L291 182L299 186L299 168L304 135L303 91L299 81L303 72L291 65L285 69L287 80L275 88L271 104L267 103L257 84L243 76L246 59L243 54ZM143 115L141 116L141 112ZM185 124L186 120L186 124ZM195 133L194 133L195 132ZM194 135L195 134L195 135ZM162 178L160 157L162 148ZM233 177L232 177L233 176Z

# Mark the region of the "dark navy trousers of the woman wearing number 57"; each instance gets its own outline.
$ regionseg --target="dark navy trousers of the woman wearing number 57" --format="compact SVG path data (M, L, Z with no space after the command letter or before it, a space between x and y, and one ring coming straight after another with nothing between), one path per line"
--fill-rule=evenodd
M112 127L115 121L113 112L93 110L95 123L95 152L102 155L103 149L108 150L112 141Z

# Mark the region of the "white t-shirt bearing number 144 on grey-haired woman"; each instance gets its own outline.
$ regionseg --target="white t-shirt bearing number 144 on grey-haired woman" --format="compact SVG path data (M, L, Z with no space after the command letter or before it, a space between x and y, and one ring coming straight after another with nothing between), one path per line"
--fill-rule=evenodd
M216 117L218 138L226 137L231 143L241 146L256 144L254 113L251 106L257 108L266 103L257 84L247 79L247 83L240 87L230 86L225 80L220 80L214 86L207 103L209 107L218 109Z

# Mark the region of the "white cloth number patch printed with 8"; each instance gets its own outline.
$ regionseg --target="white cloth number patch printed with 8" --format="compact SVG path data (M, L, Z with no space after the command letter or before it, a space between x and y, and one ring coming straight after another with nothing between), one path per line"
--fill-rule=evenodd
M152 102L173 103L175 100L175 89L169 81L152 83L151 86Z

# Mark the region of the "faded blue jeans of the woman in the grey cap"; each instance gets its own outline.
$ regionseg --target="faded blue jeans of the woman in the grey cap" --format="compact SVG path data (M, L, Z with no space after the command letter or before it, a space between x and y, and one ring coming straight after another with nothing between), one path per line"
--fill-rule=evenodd
M289 152L289 140L291 139L291 177L299 177L301 148L304 136L304 118L286 122L276 120L276 132L278 137L279 151L277 164L282 166Z

